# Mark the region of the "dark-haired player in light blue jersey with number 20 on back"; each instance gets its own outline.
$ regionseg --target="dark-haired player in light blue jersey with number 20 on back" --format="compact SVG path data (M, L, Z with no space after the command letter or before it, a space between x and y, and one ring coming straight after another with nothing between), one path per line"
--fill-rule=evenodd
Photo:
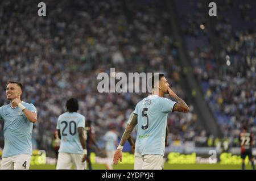
M68 112L60 115L57 121L57 131L61 141L56 169L71 169L73 163L76 170L84 170L87 156L85 117L77 113L79 110L77 99L69 99L66 107Z

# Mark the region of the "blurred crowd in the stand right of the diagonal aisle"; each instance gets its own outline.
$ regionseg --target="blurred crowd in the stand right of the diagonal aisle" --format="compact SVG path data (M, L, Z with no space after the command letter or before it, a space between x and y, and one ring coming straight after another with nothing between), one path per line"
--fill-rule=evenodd
M210 19L204 15L208 7L203 3L187 5L191 12L183 15L186 23L181 28L205 100L230 146L237 146L244 123L256 133L255 2L218 1L212 33L208 27L200 30L200 24ZM217 46L210 36L217 40Z

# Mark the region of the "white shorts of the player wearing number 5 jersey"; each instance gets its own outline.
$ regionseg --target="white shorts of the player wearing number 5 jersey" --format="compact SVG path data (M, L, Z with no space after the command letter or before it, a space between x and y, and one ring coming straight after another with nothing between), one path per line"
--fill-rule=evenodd
M164 157L159 154L134 154L134 170L163 170Z

